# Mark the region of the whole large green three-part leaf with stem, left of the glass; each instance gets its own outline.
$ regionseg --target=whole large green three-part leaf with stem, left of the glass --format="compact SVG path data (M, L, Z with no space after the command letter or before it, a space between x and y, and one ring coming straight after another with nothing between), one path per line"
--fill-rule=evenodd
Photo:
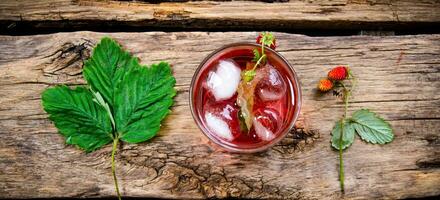
M86 86L46 89L44 110L66 143L92 152L113 142L111 169L118 198L115 154L119 140L140 143L154 137L176 94L168 63L150 67L104 37L84 63Z

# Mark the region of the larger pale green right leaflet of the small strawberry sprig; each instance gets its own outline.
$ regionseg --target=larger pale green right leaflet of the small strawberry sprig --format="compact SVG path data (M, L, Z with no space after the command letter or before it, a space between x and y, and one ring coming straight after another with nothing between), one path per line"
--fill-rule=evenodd
M394 139L391 125L376 113L366 109L353 113L353 127L362 140L373 144L385 144Z

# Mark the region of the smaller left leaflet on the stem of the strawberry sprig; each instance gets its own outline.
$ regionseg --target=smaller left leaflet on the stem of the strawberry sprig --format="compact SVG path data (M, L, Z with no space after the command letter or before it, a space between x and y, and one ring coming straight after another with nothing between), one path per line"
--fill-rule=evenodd
M340 147L340 137L342 133L342 120L336 122L332 130L332 147L339 150ZM354 129L352 123L344 123L344 134L342 137L342 149L349 147L354 141Z

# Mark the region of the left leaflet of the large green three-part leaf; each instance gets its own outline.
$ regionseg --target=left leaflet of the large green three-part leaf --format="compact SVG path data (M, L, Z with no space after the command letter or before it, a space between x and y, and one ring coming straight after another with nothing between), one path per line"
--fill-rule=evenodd
M105 109L93 102L84 87L56 86L42 94L43 108L68 144L91 152L112 141L112 126Z

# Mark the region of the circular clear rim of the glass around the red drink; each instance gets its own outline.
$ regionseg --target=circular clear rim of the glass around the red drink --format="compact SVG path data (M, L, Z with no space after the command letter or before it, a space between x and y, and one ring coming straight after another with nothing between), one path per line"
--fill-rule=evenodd
M228 144L222 142L221 140L213 137L211 134L208 133L209 130L207 130L207 128L201 122L201 117L195 112L195 108L193 105L194 85L196 84L196 81L198 80L198 75L200 73L200 70L203 68L203 66L206 64L206 62L209 59L211 59L214 55L216 55L217 53L219 53L225 49L231 48L231 47L247 46L247 45L255 46L255 47L261 46L261 45L258 45L256 43L251 43L251 42L236 42L236 43L224 45L224 46L214 50L213 52L211 52L208 56L206 56L203 59L203 61L199 64L199 66L195 70L194 75L191 79L190 88L189 88L189 106L190 106L192 118L196 122L197 127L200 129L200 131L202 131L202 133L206 137L208 137L208 139L210 141L215 143L217 146L221 147L222 149L224 149L226 151L234 152L234 153L255 153L255 152L261 152L261 151L264 151L264 150L271 148L272 146L274 146L275 144L280 142L282 139L284 139L287 136L287 134L292 130L292 128L295 126L295 123L298 120L299 114L301 112L301 102L302 102L301 86L300 86L300 82L298 80L298 76L297 76L295 69L292 67L292 65L290 65L290 63L287 61L287 59L283 55L281 55L280 53L278 53L277 51L275 51L271 48L267 48L267 49L265 48L265 51L270 51L274 55L278 56L281 59L281 61L286 64L288 70L290 70L290 72L293 75L294 80L290 80L290 81L292 81L292 83L293 83L293 92L296 93L297 95L293 94L295 97L295 99L294 99L295 105L293 105L294 113L291 118L291 121L289 122L290 124L288 126L286 126L283 130L281 130L280 131L281 134L279 136L277 136L275 139L269 141L268 143L266 143L262 146L256 147L256 148L238 148L235 146L231 146L231 145L228 145ZM297 89L295 89L295 88L297 88Z

